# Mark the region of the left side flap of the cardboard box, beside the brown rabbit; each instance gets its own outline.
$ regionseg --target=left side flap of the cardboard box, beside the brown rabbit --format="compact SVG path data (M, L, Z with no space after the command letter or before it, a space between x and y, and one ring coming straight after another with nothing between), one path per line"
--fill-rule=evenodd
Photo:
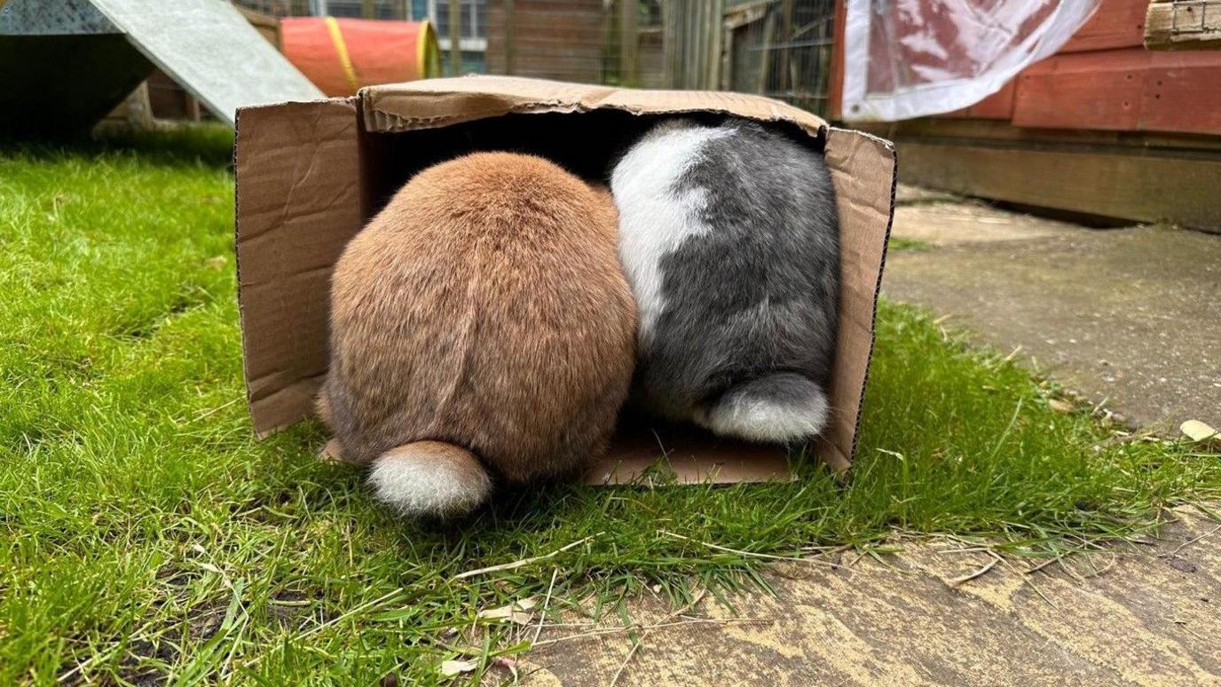
M243 108L237 114L238 312L247 402L259 436L306 417L326 373L325 347L302 353L297 342L326 340L325 314L303 313L328 307L325 298L314 302L309 296L328 290L316 282L328 284L339 252L364 224L358 105L355 98L337 98ZM319 189L333 196L324 203L321 194L303 193ZM311 200L316 208L309 208ZM255 241L275 241L276 249L252 249ZM294 260L299 251L313 259ZM284 286L294 280L315 288Z

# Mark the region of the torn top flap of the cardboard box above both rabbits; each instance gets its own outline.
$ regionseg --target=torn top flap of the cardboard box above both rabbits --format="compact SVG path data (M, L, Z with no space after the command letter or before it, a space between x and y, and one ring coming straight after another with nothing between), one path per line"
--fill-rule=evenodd
M636 115L720 112L790 121L817 136L827 122L792 105L742 93L639 90L510 76L430 78L360 90L365 128L411 131L515 114L625 110Z

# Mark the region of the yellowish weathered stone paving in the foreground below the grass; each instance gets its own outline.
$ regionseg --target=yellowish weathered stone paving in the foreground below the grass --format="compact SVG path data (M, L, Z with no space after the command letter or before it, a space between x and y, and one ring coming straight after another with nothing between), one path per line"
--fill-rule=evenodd
M1177 516L1144 544L1039 570L955 540L785 564L774 597L733 609L642 599L634 637L573 617L519 672L569 687L1221 685L1221 524Z

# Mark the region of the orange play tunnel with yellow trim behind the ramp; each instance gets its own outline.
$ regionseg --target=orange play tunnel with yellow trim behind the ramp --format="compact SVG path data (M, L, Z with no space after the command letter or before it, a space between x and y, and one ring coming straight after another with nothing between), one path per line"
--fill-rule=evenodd
M280 49L332 97L441 71L437 37L429 22L286 17L280 21Z

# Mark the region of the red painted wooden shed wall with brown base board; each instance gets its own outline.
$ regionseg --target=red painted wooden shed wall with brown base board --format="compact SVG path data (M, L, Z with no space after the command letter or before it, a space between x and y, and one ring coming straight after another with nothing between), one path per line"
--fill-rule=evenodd
M901 181L1221 231L1221 50L1145 49L1148 9L1103 0L1055 55L983 101L861 127L899 143Z

